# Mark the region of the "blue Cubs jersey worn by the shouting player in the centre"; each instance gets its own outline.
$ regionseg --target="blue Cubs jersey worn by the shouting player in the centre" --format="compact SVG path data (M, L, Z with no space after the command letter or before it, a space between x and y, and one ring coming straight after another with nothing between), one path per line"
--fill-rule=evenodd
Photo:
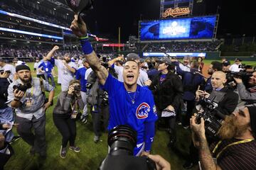
M129 96L124 83L114 79L111 74L103 86L109 94L110 120L108 129L117 125L130 125L137 131L137 144L145 142L145 123L157 120L156 106L151 91L137 85L137 91ZM135 96L135 97L134 97ZM134 104L132 100L134 99ZM152 138L152 137L151 137Z

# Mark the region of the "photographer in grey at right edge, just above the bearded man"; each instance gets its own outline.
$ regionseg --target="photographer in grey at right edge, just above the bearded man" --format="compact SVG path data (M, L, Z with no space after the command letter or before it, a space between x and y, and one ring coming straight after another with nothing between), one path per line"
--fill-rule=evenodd
M250 77L248 84L250 88L246 89L245 85L242 82L242 79L235 78L236 83L238 84L238 94L242 101L246 101L246 104L256 103L256 71L252 73L252 77Z

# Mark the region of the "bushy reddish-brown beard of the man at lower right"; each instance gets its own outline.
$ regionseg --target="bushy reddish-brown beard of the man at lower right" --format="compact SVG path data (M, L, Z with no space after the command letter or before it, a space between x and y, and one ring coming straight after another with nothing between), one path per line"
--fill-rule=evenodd
M230 140L235 137L240 137L249 127L249 123L240 125L234 115L228 115L218 131L218 136L221 140Z

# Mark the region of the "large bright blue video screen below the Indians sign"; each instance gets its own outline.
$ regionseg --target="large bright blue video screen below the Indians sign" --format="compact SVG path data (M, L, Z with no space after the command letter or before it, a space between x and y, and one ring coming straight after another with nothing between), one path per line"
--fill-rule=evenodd
M140 40L213 38L216 16L142 21Z

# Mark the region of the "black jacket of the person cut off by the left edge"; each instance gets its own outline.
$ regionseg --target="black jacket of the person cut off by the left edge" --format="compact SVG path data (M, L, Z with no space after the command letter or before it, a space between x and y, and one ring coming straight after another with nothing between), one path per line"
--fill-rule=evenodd
M0 78L0 109L8 107L5 103L8 97L7 89L9 84L9 81L6 78Z

